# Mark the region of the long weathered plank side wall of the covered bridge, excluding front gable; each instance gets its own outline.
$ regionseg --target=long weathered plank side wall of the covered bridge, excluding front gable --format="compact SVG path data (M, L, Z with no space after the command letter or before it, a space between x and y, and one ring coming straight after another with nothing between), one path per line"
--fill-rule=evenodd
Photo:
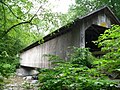
M49 68L50 63L44 54L59 55L67 59L66 53L68 52L68 46L78 46L79 42L77 41L79 41L79 30L71 30L68 33L21 53L20 63L22 66Z

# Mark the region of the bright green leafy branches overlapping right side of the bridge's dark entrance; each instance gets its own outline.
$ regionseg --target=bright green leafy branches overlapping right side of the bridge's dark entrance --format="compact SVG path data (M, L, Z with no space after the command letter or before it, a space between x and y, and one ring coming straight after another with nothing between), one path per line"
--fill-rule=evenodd
M109 51L105 55L107 59L119 59L120 57L120 26L115 25L106 30L98 39L98 46L102 51Z

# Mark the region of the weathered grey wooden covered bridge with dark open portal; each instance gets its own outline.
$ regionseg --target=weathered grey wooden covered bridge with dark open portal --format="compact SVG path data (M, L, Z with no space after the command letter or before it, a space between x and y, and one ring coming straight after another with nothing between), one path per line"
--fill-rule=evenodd
M44 43L39 41L29 45L20 52L20 65L25 67L49 68L50 62L44 54L59 55L67 59L68 47L90 48L91 52L99 51L92 41L97 40L106 28L119 24L119 20L108 7L98 9L84 17L77 18L74 23L61 27L45 36Z

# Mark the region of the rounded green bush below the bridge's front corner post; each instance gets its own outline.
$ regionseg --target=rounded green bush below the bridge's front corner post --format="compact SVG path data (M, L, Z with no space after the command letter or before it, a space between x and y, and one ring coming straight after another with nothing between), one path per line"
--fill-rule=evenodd
M92 57L91 53L89 52L88 49L81 49L81 48L76 48L73 47L73 53L70 56L70 61L72 64L78 65L83 65L87 67L92 67L92 60L94 58Z

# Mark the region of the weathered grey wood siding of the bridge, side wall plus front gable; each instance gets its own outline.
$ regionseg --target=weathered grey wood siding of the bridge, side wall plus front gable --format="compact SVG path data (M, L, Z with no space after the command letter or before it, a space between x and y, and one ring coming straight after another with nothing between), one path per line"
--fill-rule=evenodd
M59 55L61 58L67 59L68 47L85 47L85 30L88 27L92 24L110 27L111 22L110 17L104 12L86 16L77 21L69 32L21 53L20 63L22 66L49 68L50 63L44 54Z

